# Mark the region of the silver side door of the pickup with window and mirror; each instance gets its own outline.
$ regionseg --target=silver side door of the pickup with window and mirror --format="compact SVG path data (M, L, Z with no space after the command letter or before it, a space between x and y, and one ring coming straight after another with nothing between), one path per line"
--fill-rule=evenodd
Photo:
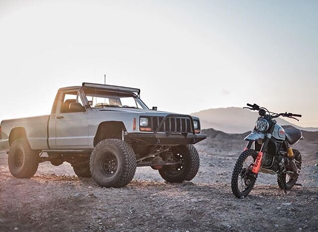
M79 91L63 92L56 114L56 148L87 148L87 123L88 114L83 106Z

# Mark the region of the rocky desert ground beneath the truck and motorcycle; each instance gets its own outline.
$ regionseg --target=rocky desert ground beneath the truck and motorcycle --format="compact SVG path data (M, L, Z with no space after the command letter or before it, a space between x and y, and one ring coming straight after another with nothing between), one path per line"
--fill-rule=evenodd
M259 174L251 193L237 199L230 182L244 145L239 135L213 135L196 145L201 166L192 181L169 184L145 167L126 187L108 189L67 163L45 162L33 178L14 178L1 152L0 231L318 231L318 143L295 146L304 162L287 194L276 176Z

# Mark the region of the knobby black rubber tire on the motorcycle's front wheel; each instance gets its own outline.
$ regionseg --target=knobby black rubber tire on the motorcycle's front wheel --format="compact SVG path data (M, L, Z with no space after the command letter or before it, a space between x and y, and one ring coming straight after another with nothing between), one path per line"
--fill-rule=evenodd
M244 175L243 169L246 167L248 168L248 166L250 165L249 163L251 162L254 163L256 157L257 157L257 152L253 149L248 149L240 154L239 159L237 160L237 163L235 164L235 167L232 173L231 188L232 188L233 194L238 198L247 196L255 184L256 178L251 178L248 185L245 185L245 182L244 182L244 185L242 185L242 187L245 186L244 189L239 189L239 187L241 187L240 184L242 184L241 182L239 183L239 180L241 180L242 175ZM246 159L250 160L250 162L244 163Z

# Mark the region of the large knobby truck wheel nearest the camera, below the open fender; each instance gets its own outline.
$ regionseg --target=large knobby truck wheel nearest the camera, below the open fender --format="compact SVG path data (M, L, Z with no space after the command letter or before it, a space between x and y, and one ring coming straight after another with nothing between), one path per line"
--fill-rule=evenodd
M90 156L90 172L101 187L123 187L134 177L136 155L132 147L120 139L99 142Z

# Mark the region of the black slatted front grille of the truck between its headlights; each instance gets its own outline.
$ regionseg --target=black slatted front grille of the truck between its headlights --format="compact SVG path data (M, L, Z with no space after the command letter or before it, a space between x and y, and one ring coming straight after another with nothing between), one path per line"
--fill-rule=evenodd
M157 130L163 117L151 117L152 131ZM158 132L192 133L191 120L186 117L168 117Z

